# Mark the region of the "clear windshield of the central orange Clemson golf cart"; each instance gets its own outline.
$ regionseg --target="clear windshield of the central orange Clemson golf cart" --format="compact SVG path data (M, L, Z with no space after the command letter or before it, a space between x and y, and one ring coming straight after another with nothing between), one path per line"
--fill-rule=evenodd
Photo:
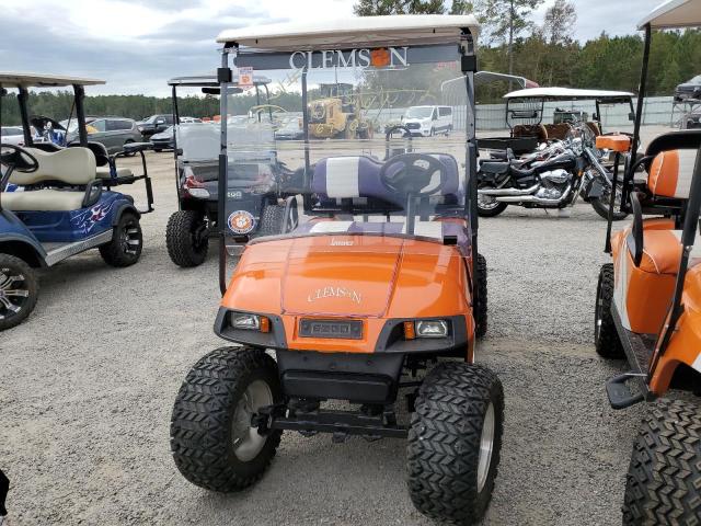
M450 57L437 60L440 66L350 65L311 69L306 79L301 70L254 67L256 75L272 80L269 99L264 101L250 88L231 92L222 107L230 116L229 243L281 233L421 238L438 243L446 237L458 243L468 239L468 84L455 82L461 89L441 91L443 81L461 75L457 52L452 47L450 52L446 52ZM331 90L335 83L341 88ZM435 122L436 127L403 122L410 115L430 117L435 105L451 108L451 115ZM273 123L266 118L271 112ZM284 112L291 115L280 115ZM246 123L231 118L243 113L251 115ZM304 114L308 141L279 133L299 126L303 136Z

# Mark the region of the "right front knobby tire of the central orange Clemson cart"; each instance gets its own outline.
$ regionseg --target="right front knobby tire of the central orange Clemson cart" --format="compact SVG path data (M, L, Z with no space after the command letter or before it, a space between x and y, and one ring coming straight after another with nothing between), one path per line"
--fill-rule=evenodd
M490 412L491 426L485 425ZM445 362L426 376L407 443L409 493L420 512L457 525L484 516L499 462L503 422L504 391L490 369ZM491 455L481 456L483 428L492 431L492 448Z

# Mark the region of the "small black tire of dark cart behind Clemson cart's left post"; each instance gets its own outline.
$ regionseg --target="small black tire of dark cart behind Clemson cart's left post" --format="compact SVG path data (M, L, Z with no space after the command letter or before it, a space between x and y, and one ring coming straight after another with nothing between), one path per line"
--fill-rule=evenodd
M198 266L207 259L209 240L197 239L197 231L204 224L205 217L195 210L179 210L168 220L165 245L168 255L177 266Z

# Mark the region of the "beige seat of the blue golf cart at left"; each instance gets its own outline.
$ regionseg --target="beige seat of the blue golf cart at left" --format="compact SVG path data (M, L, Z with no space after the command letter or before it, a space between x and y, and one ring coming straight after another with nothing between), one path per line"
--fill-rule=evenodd
M13 172L10 183L21 192L3 192L2 207L12 211L69 211L90 206L87 187L95 180L95 156L88 148L66 148L53 153L25 148L38 161L32 173ZM46 186L60 186L46 187ZM38 186L38 187L37 187ZM99 197L100 193L96 193ZM87 201L88 199L88 201Z

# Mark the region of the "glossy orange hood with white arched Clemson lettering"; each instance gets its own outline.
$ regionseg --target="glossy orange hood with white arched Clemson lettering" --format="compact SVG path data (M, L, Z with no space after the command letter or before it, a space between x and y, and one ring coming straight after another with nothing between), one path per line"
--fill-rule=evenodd
M466 288L456 247L400 237L309 236L246 247L222 306L289 316L455 316L469 309Z

